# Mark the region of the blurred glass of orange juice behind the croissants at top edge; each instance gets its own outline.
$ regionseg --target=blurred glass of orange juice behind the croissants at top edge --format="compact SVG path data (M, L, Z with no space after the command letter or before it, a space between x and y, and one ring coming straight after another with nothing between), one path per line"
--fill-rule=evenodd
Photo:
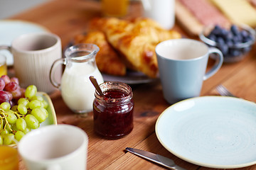
M129 0L101 0L102 12L105 16L125 16L129 5Z

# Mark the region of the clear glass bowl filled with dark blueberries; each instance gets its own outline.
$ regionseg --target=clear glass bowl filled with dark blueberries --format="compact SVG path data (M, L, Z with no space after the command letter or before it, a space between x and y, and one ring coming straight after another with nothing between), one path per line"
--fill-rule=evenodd
M250 26L231 25L223 28L218 25L208 26L199 34L199 38L210 47L217 47L224 57L224 62L239 62L255 43L255 30ZM214 58L213 56L210 56Z

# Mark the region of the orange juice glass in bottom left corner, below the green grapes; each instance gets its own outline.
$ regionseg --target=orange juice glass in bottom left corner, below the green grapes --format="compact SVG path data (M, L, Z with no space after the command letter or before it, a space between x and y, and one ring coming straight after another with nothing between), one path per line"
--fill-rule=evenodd
M17 149L6 145L0 145L0 169L18 170Z

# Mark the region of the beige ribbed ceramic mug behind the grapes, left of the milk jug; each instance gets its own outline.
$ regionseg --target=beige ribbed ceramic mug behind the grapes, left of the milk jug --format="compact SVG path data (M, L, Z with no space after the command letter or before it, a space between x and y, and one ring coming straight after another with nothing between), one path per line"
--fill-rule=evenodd
M14 71L22 87L36 85L38 91L51 93L55 87L50 83L50 67L62 57L61 41L52 33L28 33L15 38L11 46L1 45L14 55ZM55 72L60 77L61 68Z

